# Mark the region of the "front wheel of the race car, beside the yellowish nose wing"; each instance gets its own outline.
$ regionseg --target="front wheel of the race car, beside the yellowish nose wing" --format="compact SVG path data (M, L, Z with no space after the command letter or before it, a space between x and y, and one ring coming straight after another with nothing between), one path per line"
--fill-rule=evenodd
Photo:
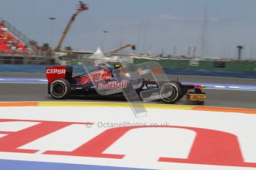
M180 85L176 82L164 84L160 89L160 98L165 103L175 103L183 97Z

